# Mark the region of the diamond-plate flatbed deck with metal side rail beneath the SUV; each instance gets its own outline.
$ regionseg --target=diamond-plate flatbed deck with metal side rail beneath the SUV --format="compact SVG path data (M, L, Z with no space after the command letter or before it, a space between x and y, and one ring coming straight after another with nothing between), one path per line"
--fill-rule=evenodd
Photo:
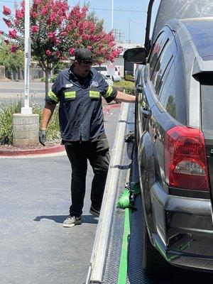
M124 141L133 130L134 106L122 104L86 284L212 284L212 273L180 268L168 277L149 278L144 273L141 195L133 204L136 209L117 206L125 186L133 188L139 181L134 141Z

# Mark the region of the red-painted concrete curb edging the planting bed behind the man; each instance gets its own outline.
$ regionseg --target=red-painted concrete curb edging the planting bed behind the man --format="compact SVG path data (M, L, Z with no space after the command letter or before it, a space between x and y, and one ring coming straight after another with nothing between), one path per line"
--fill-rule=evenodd
M104 116L110 113L111 109L116 109L121 107L121 104L109 104L107 107L104 107L103 113ZM27 149L27 150L0 150L0 157L9 157L9 156L21 156L21 155L43 155L50 153L60 153L65 151L65 146L57 144L48 148L40 148L40 149Z

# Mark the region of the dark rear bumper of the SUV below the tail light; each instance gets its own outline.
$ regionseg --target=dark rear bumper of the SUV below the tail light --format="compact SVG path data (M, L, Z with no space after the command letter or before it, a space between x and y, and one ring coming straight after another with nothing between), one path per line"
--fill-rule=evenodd
M151 187L155 231L151 239L176 266L213 271L213 225L210 200L168 195L158 182Z

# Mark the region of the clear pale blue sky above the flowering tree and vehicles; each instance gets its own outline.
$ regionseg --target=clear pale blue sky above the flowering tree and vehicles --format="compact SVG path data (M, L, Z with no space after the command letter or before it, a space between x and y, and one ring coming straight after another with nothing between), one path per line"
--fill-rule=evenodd
M15 0L16 3L19 0ZM2 20L3 5L8 6L13 11L13 0L0 0L0 30L7 31L7 27ZM116 38L124 43L144 43L144 35L146 28L146 11L148 8L148 0L68 0L70 6L75 6L84 2L89 4L89 11L94 11L98 18L104 19L104 29L106 32L113 28ZM155 0L153 6L153 18L156 15L157 7L160 0ZM111 17L111 6L114 3L113 21Z

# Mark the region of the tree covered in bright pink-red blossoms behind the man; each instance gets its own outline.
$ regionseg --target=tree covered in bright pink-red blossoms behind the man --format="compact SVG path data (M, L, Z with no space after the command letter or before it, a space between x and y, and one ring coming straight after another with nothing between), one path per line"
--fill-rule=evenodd
M24 1L15 9L4 6L4 22L9 27L5 43L11 52L24 45ZM59 60L74 55L76 48L92 50L97 64L113 62L120 50L115 48L112 32L104 32L104 21L88 12L87 5L70 9L66 0L33 0L31 16L31 55L45 71L45 92L48 93L48 75ZM0 31L0 33L3 33Z

